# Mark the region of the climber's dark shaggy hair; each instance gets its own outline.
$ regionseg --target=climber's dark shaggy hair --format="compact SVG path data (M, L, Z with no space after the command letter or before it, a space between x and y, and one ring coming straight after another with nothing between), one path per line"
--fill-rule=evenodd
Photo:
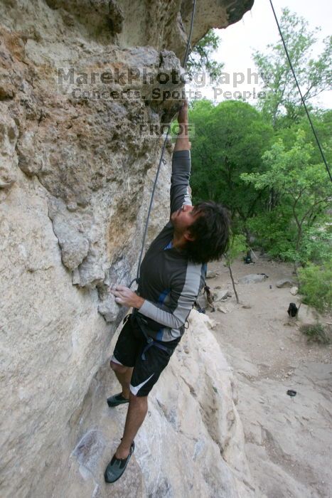
M230 215L226 208L213 201L202 202L193 208L200 216L190 227L194 240L186 251L193 263L219 260L227 251L230 238Z

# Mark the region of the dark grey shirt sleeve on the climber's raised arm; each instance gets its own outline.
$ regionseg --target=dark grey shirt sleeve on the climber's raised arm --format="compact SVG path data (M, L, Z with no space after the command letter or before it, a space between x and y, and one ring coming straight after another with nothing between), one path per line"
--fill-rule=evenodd
M173 152L171 176L171 213L183 204L191 206L189 179L191 176L191 152L178 150Z

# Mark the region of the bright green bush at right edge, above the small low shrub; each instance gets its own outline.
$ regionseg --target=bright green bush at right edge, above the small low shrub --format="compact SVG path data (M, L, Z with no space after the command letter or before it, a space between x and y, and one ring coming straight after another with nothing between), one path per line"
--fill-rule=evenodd
M299 268L299 292L302 302L321 312L332 308L332 262L324 265L309 264Z

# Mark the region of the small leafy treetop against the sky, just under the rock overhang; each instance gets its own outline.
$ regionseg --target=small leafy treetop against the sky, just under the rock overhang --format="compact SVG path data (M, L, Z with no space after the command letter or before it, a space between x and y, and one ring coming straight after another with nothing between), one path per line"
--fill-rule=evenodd
M220 38L210 29L203 38L196 43L193 51L188 57L187 72L191 77L196 73L208 73L210 83L218 83L224 64L213 60L213 53L220 46Z

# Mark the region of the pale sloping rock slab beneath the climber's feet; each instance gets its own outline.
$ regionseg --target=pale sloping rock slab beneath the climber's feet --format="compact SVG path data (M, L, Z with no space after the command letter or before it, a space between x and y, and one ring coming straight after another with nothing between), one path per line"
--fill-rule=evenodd
M257 496L243 452L234 379L207 325L208 317L192 312L181 346L151 391L136 450L112 485L112 497ZM127 413L127 406L107 406L107 396L119 388L114 379L105 365L71 420L76 444L58 477L57 496L109 496L103 472Z

